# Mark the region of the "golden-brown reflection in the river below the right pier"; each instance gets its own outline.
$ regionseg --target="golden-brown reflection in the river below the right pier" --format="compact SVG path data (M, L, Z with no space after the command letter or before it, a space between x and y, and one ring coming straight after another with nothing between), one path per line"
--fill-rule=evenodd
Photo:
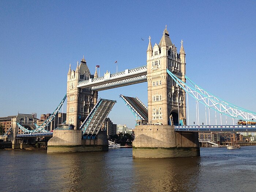
M191 191L196 188L200 158L133 159L136 191Z

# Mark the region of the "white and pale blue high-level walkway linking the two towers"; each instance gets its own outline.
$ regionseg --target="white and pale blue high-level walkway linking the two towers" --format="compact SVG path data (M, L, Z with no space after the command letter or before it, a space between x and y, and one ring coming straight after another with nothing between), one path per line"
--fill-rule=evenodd
M147 65L114 74L106 72L104 76L80 81L77 87L82 89L91 87L91 90L102 91L143 82L147 82Z

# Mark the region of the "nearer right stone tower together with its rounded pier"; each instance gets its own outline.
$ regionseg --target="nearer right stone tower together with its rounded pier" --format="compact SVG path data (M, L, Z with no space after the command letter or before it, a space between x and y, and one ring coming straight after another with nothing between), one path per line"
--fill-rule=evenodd
M185 81L186 58L169 37L167 27L159 44L147 48L148 125L135 127L133 158L173 158L200 156L198 133L176 132L174 125L186 125L185 91L167 74L169 69Z

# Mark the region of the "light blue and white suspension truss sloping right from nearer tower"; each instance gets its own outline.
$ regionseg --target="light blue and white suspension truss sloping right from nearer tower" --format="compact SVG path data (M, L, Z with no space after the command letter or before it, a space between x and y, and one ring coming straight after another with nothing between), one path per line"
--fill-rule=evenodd
M188 93L191 97L196 99L197 103L200 102L203 105L207 106L209 109L215 110L215 118L216 118L216 112L218 112L220 114L224 114L225 116L229 116L232 118L241 119L244 121L256 122L256 112L252 112L250 110L236 106L230 102L227 102L227 101L207 92L206 90L197 86L197 84L195 84L187 76L185 76L185 78L191 83L191 85L189 85L188 83L185 83L182 80L180 80L179 78L177 78L177 76L174 75L172 72L170 72L168 69L166 69L166 71L172 77L172 79L186 93ZM197 105L197 111L198 111L198 105ZM197 118L199 118L199 117L197 117ZM197 121L199 121L199 120L197 119ZM216 122L216 124L217 124L217 122Z

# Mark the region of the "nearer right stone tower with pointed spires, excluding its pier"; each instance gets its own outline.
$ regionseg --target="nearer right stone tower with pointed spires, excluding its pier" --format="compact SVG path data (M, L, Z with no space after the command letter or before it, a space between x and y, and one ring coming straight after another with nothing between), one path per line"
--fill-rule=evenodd
M162 38L152 48L151 37L147 48L148 123L153 125L186 125L185 91L167 74L172 71L185 80L185 51L181 41L180 53L169 37L167 27ZM171 118L170 118L171 117Z

